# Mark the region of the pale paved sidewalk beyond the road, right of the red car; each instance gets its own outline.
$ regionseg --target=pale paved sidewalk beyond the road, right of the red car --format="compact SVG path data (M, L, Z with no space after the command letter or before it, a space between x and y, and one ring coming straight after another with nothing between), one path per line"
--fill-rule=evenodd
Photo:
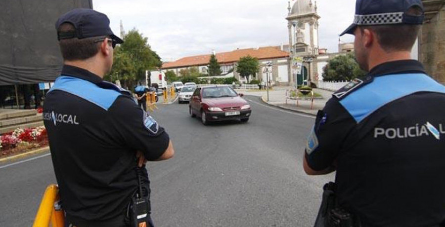
M311 109L311 100L297 100L288 99L286 104L286 90L292 89L292 87L275 87L273 90L269 90L269 97L267 101L267 91L248 91L248 90L237 90L238 93L243 93L246 95L255 95L262 97L263 101L269 105L276 106L282 109L300 112L304 114L316 115L318 110L324 108L326 102L332 97L332 91L313 89L315 93L323 96L323 99L314 99L313 106Z

